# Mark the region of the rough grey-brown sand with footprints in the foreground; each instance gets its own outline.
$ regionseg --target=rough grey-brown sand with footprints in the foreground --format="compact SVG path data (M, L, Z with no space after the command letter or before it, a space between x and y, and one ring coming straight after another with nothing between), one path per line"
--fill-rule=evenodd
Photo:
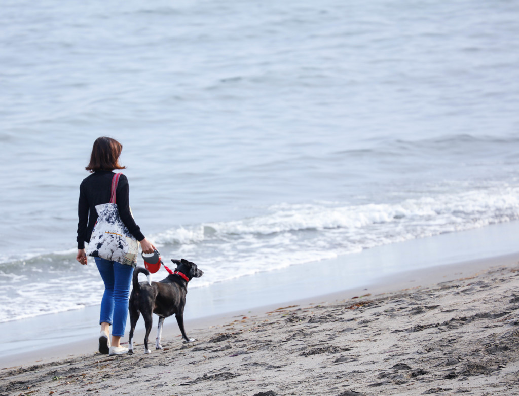
M137 339L132 356L6 367L0 394L519 394L519 265L423 284L245 313L147 355Z

